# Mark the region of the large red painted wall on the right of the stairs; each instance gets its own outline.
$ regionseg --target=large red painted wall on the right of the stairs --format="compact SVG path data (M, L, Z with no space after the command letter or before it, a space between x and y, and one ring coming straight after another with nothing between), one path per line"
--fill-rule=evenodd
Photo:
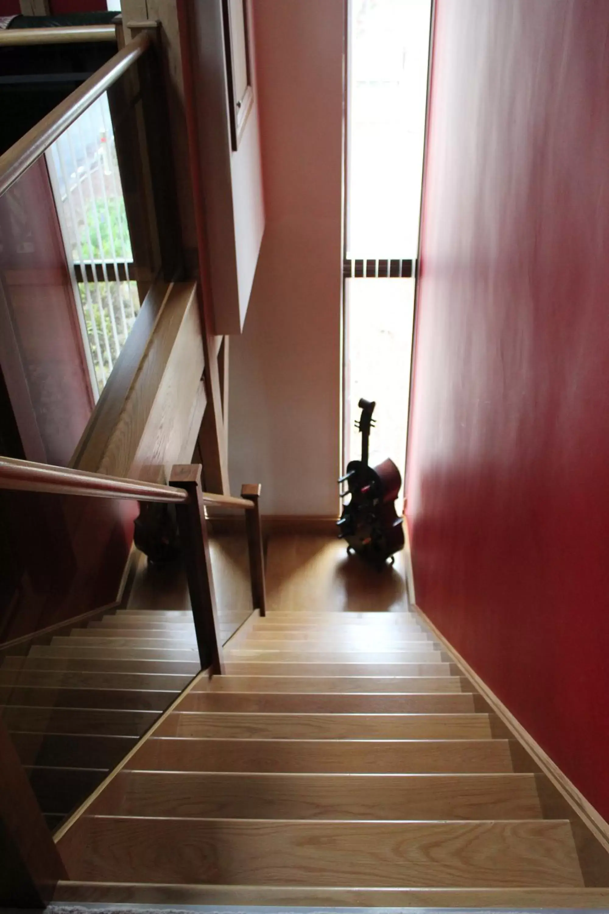
M609 4L436 14L416 597L609 818Z

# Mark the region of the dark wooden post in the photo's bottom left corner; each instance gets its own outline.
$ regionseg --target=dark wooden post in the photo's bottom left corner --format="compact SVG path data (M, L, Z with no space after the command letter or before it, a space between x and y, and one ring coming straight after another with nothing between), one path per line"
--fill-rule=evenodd
M0 720L0 907L44 908L68 874Z

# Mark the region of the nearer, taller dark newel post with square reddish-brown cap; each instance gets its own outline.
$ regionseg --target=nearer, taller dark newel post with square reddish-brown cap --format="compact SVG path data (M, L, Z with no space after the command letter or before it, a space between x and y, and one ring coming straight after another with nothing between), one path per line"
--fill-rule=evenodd
M215 604L214 577L209 554L205 509L201 494L201 466L183 463L173 466L169 484L185 489L189 498L175 505L184 567L193 609L194 632L201 669L224 673L220 626Z

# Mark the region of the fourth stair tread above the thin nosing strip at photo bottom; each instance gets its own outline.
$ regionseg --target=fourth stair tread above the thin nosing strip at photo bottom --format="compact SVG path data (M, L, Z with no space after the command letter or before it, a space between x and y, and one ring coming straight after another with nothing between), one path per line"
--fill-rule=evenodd
M206 739L489 739L488 714L307 714L177 710L157 736Z

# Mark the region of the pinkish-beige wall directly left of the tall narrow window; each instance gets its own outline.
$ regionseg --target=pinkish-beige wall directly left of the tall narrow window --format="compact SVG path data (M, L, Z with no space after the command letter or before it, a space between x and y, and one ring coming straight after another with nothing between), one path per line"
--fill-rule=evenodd
M263 512L336 515L343 0L255 0L267 225L231 339L231 487Z

